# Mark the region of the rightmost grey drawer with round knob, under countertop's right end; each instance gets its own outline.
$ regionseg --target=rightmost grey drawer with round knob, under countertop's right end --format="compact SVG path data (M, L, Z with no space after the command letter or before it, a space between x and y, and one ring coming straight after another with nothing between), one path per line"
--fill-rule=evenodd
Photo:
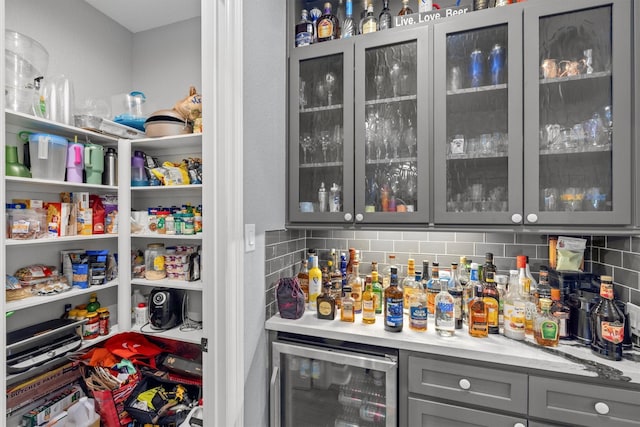
M571 425L640 426L640 391L531 376L529 415Z

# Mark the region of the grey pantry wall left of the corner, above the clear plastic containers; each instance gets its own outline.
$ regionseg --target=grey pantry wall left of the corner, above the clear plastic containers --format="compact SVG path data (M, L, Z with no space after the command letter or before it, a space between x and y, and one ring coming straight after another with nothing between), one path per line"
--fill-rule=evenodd
M129 30L79 0L6 0L5 8L6 28L47 49L47 75L71 79L76 102L129 91L133 69Z

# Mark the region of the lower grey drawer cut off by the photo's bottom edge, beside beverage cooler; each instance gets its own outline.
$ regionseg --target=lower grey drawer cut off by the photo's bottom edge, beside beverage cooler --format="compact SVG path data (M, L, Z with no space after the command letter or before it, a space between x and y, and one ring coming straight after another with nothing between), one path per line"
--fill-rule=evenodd
M411 427L526 427L525 418L409 398Z

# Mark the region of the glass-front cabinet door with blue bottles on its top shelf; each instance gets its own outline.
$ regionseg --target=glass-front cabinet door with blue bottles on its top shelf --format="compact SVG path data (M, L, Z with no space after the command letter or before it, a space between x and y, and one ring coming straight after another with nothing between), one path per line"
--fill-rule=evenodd
M434 26L436 223L521 222L522 15L515 8Z

